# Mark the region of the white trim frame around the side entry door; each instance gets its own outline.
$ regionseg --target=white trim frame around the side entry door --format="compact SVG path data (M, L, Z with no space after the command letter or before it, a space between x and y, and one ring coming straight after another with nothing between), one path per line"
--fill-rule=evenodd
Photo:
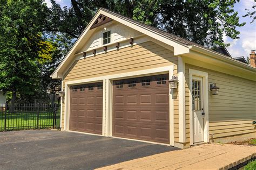
M208 114L208 73L189 69L190 74L190 145L193 145L193 110L192 110L192 76L203 77L203 102L204 102L204 142L209 142L209 114Z

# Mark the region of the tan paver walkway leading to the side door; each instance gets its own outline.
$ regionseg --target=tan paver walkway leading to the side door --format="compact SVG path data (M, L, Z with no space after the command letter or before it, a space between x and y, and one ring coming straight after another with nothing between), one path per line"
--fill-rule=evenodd
M204 144L100 169L228 169L256 157L256 146Z

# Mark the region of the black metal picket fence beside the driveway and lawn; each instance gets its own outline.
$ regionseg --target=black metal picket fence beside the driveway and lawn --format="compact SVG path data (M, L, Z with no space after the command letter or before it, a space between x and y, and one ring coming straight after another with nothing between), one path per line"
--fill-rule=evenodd
M0 104L0 131L59 128L57 104Z

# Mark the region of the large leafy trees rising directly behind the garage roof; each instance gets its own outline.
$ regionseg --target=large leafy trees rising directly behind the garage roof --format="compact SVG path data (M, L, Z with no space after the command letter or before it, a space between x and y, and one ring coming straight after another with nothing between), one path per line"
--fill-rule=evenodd
M148 25L176 34L200 45L215 47L224 44L223 35L238 39L238 12L233 10L239 1L75 1L63 10L51 1L52 25L55 31L78 38L100 7L121 13Z

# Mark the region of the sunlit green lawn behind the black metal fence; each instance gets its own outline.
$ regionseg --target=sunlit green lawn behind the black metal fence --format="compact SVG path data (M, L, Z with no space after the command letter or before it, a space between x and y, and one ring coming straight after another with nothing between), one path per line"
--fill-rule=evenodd
M4 130L5 117L0 112L0 131ZM60 112L57 112L57 128L60 125ZM46 129L53 127L53 113L40 112L38 119L38 129ZM37 113L36 112L19 112L6 114L6 131L37 129Z

